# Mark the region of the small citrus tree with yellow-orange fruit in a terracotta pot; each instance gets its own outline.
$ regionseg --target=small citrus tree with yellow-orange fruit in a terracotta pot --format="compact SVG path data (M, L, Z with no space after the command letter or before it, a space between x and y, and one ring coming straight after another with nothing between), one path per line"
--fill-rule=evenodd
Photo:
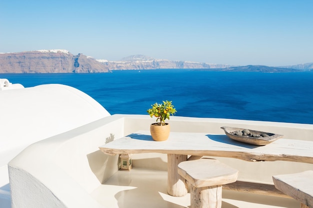
M152 139L155 141L167 140L169 136L170 127L165 120L169 120L170 115L174 115L177 111L171 104L172 101L162 101L161 104L154 103L151 108L147 110L147 113L152 118L156 117L156 123L150 125L150 133Z

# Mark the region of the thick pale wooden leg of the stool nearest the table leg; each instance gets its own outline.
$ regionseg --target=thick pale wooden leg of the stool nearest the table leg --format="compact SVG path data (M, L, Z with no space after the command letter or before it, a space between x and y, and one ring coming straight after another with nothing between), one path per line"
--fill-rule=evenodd
M191 186L191 208L221 208L222 186L200 187Z

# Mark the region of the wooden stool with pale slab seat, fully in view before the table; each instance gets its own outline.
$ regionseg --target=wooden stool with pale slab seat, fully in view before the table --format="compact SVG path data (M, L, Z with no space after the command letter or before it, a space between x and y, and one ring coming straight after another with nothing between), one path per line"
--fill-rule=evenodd
M191 185L191 208L220 208L221 186L238 176L237 170L209 158L181 162L177 172Z

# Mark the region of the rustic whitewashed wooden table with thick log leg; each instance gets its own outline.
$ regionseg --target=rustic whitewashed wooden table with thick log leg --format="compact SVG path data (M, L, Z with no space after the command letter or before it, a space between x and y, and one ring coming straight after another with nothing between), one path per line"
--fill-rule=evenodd
M255 146L229 139L226 135L171 132L168 140L155 142L148 131L138 131L102 145L108 155L136 153L167 154L167 192L171 196L186 194L186 185L177 174L177 165L187 155L229 157L244 161L292 161L313 164L313 141L278 139L266 146Z

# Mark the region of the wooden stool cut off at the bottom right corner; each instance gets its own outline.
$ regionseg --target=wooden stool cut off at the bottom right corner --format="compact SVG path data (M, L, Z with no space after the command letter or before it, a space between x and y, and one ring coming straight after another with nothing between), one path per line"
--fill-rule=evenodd
M273 176L275 188L301 203L300 208L313 208L313 171Z

